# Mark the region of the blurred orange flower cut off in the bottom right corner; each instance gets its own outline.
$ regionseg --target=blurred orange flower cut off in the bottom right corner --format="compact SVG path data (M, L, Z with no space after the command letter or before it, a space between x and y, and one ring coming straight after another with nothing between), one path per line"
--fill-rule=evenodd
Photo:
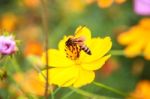
M150 99L150 81L140 81L128 99Z

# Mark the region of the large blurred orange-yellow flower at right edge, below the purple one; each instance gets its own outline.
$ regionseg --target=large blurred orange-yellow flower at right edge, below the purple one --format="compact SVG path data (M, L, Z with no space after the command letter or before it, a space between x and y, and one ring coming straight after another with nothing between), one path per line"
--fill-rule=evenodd
M135 57L143 54L146 59L150 59L150 18L144 18L136 26L121 33L118 42L127 46L125 55Z

